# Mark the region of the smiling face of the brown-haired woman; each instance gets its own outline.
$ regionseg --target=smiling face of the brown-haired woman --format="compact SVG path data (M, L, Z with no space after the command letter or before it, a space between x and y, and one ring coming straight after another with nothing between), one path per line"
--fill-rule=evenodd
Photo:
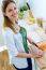
M12 22L17 22L18 13L16 9L16 4L11 2L5 10L5 16L7 16Z

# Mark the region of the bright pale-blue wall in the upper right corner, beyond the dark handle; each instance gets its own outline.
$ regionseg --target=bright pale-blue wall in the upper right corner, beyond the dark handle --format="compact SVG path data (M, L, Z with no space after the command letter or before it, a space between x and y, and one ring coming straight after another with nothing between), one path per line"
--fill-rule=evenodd
M35 17L46 19L46 0L30 0L29 3Z

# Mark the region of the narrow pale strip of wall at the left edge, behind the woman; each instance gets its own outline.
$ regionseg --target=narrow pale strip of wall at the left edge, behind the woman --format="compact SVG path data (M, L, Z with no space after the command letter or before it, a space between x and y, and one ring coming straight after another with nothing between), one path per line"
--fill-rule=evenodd
M1 1L2 0L0 0L0 46L4 44L3 37L2 37L2 23L3 23L3 18L2 18L2 12L1 12Z

